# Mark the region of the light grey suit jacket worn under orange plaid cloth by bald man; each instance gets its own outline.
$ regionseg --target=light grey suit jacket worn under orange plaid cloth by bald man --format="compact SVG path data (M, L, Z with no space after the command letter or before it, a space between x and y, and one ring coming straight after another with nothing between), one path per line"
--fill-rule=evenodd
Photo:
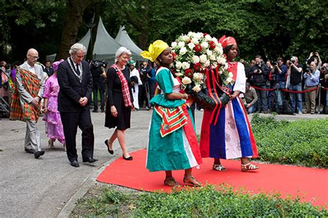
M19 66L21 69L24 69L28 71L28 63L24 62L24 64L21 64ZM44 71L42 71L42 66L39 64L34 65L35 69L35 75L41 80L39 92L37 93L37 96L39 96L40 100L44 96ZM16 71L16 82L17 82L17 91L19 92L19 101L21 105L24 105L24 102L30 103L33 101L33 97L26 91L25 87L21 83L21 74L19 71Z

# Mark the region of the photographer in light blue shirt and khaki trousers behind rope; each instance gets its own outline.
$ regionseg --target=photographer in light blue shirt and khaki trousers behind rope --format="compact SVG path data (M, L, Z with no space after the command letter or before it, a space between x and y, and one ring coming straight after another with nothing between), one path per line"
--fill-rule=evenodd
M319 84L320 71L317 69L316 62L311 62L310 67L306 69L304 75L304 90L315 89ZM305 113L314 114L316 111L316 96L318 90L304 93L305 97Z

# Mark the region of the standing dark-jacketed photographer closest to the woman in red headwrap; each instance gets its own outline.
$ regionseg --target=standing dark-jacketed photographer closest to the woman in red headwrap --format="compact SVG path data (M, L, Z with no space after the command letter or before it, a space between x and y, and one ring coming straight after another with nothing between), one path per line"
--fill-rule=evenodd
M268 73L269 69L264 64L262 57L257 55L255 57L255 64L250 69L249 75L253 76L253 83L255 87L259 87L260 89L266 89L266 82L268 81ZM268 102L266 99L266 91L256 89L257 93L257 109L259 112L262 110L264 113L268 113Z

